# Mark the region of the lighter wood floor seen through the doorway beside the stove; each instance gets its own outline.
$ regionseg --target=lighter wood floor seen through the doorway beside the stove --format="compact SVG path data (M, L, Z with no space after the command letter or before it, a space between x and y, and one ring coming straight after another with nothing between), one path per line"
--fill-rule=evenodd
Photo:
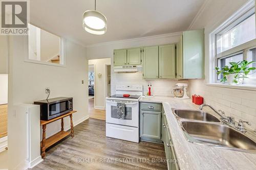
M91 118L96 118L101 120L106 119L105 110L94 109L94 98L89 99L89 114Z

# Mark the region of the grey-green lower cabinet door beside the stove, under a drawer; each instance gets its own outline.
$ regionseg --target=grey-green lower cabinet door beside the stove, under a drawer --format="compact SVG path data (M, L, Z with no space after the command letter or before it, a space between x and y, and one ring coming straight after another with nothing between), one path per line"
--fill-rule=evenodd
M161 112L140 111L140 137L161 139Z

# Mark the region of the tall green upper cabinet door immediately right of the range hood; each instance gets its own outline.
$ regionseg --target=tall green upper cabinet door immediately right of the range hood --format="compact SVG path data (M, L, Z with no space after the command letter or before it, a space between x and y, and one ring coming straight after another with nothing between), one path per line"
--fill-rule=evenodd
M158 46L143 47L143 78L158 79Z

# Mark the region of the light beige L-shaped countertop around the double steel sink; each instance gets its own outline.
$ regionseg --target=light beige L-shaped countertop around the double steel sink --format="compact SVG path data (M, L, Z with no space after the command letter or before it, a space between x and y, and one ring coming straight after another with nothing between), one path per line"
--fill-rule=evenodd
M155 96L142 97L140 102L163 104L180 169L256 169L256 154L199 145L186 140L172 108L198 109L199 105L191 103L191 99L178 100L170 96ZM207 111L212 113L211 110Z

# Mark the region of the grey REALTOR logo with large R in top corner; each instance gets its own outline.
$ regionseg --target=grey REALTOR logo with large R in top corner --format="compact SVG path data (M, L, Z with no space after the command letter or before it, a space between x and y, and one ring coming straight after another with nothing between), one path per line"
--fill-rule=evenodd
M1 0L1 35L28 35L28 0Z

